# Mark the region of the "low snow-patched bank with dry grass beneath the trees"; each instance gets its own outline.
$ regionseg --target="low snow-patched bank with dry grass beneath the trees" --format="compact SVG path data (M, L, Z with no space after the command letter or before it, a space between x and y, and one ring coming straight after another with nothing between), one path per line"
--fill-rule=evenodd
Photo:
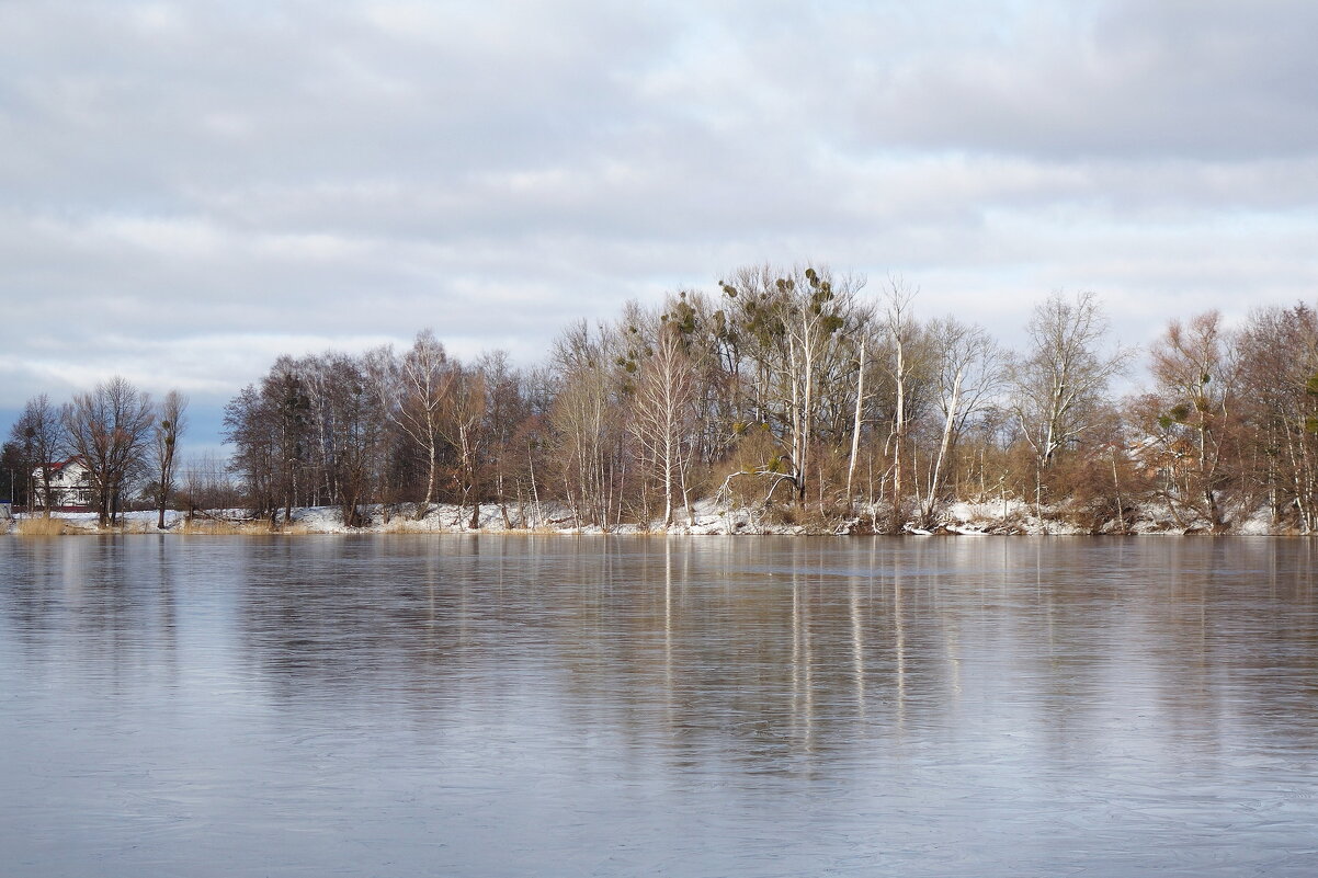
M693 505L689 514L681 510L671 527L662 522L648 526L617 523L609 527L584 525L571 509L543 506L535 510L514 512L496 504L480 506L474 517L471 506L439 504L428 514L416 517L415 506L374 505L366 508L369 523L348 527L343 523L337 506L310 506L293 510L291 521L279 521L272 527L269 519L253 519L239 509L211 510L188 518L181 512L165 513L165 527L158 529L154 510L128 512L112 527L100 527L95 513L54 513L49 518L18 515L0 521L0 533L26 537L58 537L79 534L174 534L174 535L304 535L304 534L671 534L671 535L861 535L873 534L873 522L886 518L882 510L867 510L859 515L840 518L801 513L792 508L774 510L728 508L712 501ZM1044 509L1037 515L1033 506L1021 501L957 502L950 504L933 527L905 523L905 535L1201 535L1214 533L1202 523L1176 521L1168 510L1141 508L1124 527L1116 522L1103 522L1086 527L1073 517L1054 509ZM1265 512L1238 517L1219 535L1296 535L1290 527L1273 523Z

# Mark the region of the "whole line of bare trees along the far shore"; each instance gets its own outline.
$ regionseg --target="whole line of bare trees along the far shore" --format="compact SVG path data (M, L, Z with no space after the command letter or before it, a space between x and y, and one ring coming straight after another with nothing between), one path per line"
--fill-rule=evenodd
M136 505L165 529L170 510L281 529L332 506L343 529L1318 530L1309 305L1236 328L1189 314L1143 352L1091 293L1049 295L1019 351L933 310L900 278L743 268L573 323L534 368L461 361L430 330L281 356L225 407L232 454L206 472L174 463L186 401L123 378L29 401L3 465L41 512L76 459L101 527Z

